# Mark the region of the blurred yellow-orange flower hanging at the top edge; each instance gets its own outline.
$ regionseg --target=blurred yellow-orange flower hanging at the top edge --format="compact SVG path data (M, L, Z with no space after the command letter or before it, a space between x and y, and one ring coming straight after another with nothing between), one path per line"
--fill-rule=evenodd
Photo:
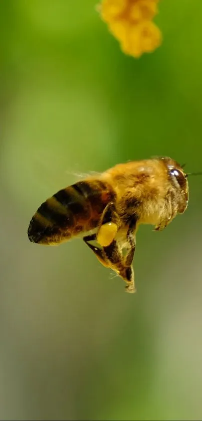
M99 12L125 54L140 57L161 44L161 32L152 22L158 0L103 0Z

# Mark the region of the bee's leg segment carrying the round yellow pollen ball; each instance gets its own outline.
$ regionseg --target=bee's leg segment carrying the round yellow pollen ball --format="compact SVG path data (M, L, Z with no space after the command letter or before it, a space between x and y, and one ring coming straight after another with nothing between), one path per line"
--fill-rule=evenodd
M113 202L110 202L105 207L97 232L97 241L101 246L108 246L114 240L118 225L117 225L117 213Z

